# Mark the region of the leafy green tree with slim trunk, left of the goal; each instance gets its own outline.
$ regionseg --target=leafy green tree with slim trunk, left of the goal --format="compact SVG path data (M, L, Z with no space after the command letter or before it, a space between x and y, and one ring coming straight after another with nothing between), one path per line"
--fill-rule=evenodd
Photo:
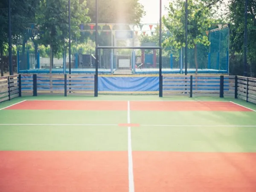
M71 34L79 38L79 26L90 21L86 1L71 0ZM50 72L53 55L68 47L68 0L41 0L37 13L37 25L41 31L38 43L50 46Z

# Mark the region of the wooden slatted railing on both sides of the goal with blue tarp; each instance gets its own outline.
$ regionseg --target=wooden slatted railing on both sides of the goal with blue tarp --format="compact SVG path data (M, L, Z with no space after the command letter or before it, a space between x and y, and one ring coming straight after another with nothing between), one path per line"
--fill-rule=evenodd
M94 75L0 77L0 102L23 95L94 95L95 91ZM242 76L163 76L163 96L176 94L231 96L256 104L256 79Z

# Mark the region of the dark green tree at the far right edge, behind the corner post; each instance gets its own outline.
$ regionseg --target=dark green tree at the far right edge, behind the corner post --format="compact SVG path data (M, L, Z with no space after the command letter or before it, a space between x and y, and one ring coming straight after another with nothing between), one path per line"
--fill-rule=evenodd
M230 5L230 73L232 75L242 75L244 71L244 0L231 0ZM247 41L247 61L249 64L248 75L256 76L256 1L248 0L247 12L248 41Z

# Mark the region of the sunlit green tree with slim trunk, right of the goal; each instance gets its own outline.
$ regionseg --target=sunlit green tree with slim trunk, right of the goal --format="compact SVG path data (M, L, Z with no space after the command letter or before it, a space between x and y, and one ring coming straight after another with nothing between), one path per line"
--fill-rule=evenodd
M195 67L198 72L197 46L209 46L206 31L210 28L210 9L201 0L188 1L188 49L194 49ZM164 47L173 47L177 52L185 47L185 3L175 0L169 3L168 15L163 17L163 23L170 31L170 37L164 41Z

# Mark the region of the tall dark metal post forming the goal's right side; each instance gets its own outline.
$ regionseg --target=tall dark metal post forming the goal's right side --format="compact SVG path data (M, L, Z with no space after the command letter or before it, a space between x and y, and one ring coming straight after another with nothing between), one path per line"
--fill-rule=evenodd
M162 0L160 0L160 28L159 28L159 96L163 97L163 76L162 76Z

